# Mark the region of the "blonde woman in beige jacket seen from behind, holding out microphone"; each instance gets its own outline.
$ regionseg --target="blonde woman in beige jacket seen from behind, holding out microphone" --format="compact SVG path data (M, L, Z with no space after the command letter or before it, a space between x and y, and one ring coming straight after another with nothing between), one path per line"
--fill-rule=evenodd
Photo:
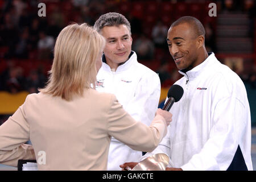
M0 163L36 159L39 170L106 170L112 136L134 150L158 146L171 113L157 110L148 127L134 121L113 94L94 89L104 46L105 39L85 23L60 32L46 88L28 95L0 126ZM29 139L32 146L24 144Z

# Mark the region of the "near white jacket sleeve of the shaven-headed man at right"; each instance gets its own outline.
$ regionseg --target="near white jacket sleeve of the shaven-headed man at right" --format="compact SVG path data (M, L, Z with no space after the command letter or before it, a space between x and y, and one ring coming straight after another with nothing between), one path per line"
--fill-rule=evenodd
M235 96L222 98L213 113L209 139L183 170L226 170L233 160L245 129L246 107Z

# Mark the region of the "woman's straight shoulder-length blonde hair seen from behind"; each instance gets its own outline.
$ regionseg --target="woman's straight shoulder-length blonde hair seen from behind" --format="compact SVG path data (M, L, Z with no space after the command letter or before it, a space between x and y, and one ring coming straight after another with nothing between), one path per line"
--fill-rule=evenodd
M105 39L86 23L73 23L61 30L54 48L54 59L46 88L42 93L72 100L82 96L85 88L95 89L96 60Z

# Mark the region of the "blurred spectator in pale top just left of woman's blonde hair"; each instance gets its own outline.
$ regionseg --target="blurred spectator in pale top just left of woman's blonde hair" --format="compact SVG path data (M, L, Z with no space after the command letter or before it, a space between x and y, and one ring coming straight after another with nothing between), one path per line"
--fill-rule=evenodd
M52 36L46 35L44 31L39 32L38 59L51 59L55 41Z

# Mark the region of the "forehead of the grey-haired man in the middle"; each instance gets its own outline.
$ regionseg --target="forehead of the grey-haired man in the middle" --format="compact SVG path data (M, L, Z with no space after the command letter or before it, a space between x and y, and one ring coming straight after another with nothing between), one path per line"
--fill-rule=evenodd
M105 26L102 28L101 32L105 38L118 38L120 36L130 35L125 24L120 24L118 26Z

